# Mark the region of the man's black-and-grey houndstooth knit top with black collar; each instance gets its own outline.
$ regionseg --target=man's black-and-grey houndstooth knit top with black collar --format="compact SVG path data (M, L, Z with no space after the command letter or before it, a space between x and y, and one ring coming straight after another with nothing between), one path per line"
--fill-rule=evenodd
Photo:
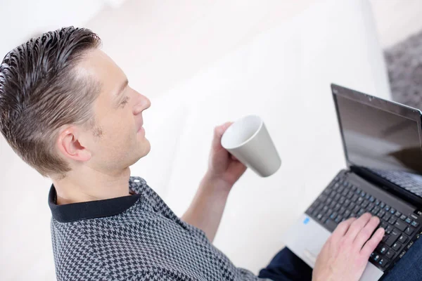
M181 221L143 178L131 177L129 190L134 195L57 205L51 185L58 281L260 280Z

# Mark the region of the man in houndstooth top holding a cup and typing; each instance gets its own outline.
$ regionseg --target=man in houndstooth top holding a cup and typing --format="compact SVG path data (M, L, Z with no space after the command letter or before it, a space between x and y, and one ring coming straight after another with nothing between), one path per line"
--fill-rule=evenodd
M220 145L230 122L215 128L208 170L182 218L130 177L129 166L150 151L142 112L151 103L100 44L90 30L66 27L18 46L0 65L1 133L53 181L59 281L359 280L384 234L370 214L340 223L313 271L283 249L257 277L212 245L246 169Z

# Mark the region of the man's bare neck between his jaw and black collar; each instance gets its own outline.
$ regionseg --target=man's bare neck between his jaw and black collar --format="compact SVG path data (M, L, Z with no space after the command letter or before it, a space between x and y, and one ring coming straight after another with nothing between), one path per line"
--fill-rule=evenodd
M70 171L61 180L54 180L57 204L70 204L127 196L129 194L130 169L115 174L99 171Z

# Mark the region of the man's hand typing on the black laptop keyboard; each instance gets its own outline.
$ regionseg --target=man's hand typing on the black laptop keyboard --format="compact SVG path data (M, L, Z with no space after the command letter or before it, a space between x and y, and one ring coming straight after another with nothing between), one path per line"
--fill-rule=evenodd
M371 214L340 223L316 259L312 280L359 280L369 256L383 239L383 228L373 233L379 223L379 218Z

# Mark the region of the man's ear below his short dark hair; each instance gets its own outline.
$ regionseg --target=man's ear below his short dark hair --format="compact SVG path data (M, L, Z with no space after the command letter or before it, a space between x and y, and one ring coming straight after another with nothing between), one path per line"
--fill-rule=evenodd
M86 162L91 159L91 152L79 143L80 133L75 126L68 126L58 134L56 145L65 158Z

